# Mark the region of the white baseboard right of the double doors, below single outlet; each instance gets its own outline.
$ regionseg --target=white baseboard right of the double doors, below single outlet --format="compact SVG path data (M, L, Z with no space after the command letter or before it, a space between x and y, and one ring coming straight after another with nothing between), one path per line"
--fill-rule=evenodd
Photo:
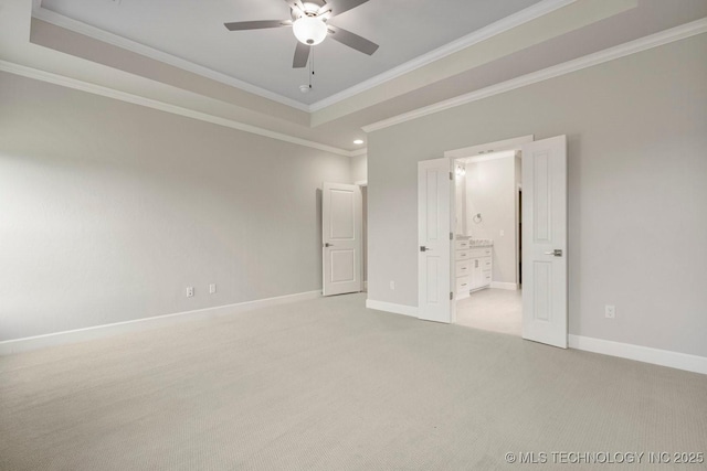
M570 349L583 350L585 352L602 353L604 355L707 374L706 356L689 355L686 353L671 352L669 350L658 350L650 346L612 342L610 340L583 335L569 335L569 346Z

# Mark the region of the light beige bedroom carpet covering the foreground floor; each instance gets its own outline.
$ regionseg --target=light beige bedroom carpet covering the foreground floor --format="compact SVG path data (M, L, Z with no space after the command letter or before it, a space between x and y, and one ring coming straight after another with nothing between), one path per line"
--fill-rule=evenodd
M363 304L339 296L0 357L0 469L705 469L647 461L707 451L705 375ZM572 465L561 452L645 454Z

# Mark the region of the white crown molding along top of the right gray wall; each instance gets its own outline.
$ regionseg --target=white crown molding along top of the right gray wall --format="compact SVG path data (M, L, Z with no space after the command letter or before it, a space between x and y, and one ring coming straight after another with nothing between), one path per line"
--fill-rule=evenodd
M707 18L363 126L372 132L707 32Z

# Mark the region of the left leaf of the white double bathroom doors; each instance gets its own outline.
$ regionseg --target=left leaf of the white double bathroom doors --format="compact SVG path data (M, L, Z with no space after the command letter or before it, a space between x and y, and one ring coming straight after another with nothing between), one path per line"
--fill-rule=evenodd
M450 159L418 163L418 317L452 320L452 180Z

